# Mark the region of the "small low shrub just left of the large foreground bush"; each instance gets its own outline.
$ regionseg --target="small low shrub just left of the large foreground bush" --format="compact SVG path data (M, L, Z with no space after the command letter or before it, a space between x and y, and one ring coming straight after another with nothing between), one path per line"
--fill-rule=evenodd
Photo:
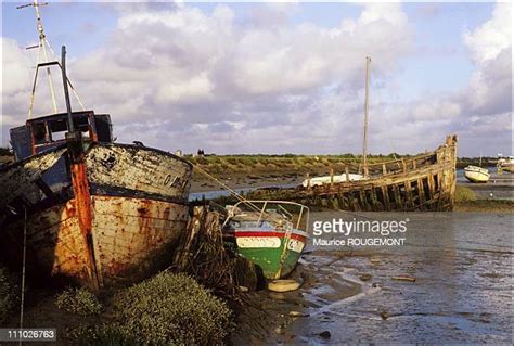
M67 289L56 296L59 309L79 316L98 315L102 305L97 296L86 289Z

